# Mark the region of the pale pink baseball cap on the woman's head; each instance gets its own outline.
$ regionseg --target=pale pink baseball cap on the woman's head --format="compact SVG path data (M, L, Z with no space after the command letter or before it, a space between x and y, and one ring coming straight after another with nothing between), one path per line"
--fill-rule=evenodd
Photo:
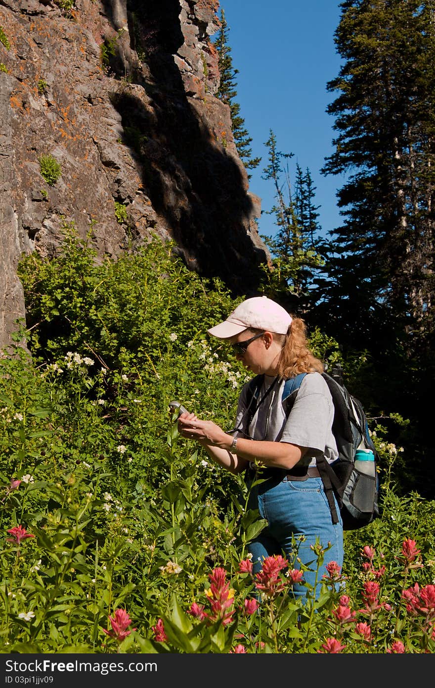
M287 334L290 325L291 316L279 303L267 297L253 297L240 303L223 323L211 327L207 332L219 339L234 337L247 327Z

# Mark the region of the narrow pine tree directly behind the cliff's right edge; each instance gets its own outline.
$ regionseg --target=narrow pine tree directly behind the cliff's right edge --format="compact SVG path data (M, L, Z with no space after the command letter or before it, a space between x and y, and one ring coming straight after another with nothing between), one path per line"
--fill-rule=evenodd
M246 169L255 169L258 164L260 164L261 158L251 157L252 148L249 144L252 143L252 137L249 136L245 128L245 120L240 114L241 107L234 100L237 96L236 74L238 74L238 69L234 69L232 65L231 47L228 45L229 32L230 29L225 19L225 12L221 10L221 26L216 36L216 41L214 41L214 45L219 55L218 67L221 77L216 95L223 103L230 106L232 135L238 155ZM250 175L248 175L248 178L250 178Z

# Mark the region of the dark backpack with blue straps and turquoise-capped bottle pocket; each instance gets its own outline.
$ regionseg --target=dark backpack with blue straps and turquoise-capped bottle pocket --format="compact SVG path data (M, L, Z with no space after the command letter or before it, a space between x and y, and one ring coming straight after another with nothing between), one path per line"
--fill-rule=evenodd
M288 416L295 402L298 389L306 373L300 373L286 380L282 391L282 407ZM379 516L379 478L377 465L379 454L368 432L366 413L361 402L348 392L342 384L339 369L332 375L322 373L334 404L333 435L337 442L338 458L328 464L324 456L316 458L317 469L322 478L333 523L338 523L333 494L342 515L343 529L355 530L371 523ZM258 399L263 376L256 376L249 383L248 403ZM375 475L366 475L355 468L357 449L371 449L375 455Z

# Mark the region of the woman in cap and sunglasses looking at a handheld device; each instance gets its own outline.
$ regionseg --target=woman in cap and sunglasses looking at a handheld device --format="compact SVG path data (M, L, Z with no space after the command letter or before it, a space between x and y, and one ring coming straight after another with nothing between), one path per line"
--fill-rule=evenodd
M290 566L304 563L312 570L304 580L315 585L317 561L311 546L320 540L328 548L317 573L316 596L320 592L326 564L343 563L342 520L333 524L316 457L337 459L332 432L334 407L322 378L324 366L306 342L304 321L291 318L284 308L267 297L243 301L219 325L208 330L227 341L258 378L257 398L244 385L238 400L236 427L226 433L210 420L194 413L179 417L183 437L201 442L209 455L232 473L245 471L249 484L249 508L258 508L268 526L249 544L254 573L263 559L284 554ZM282 405L286 378L304 376L289 415ZM260 469L260 470L258 470ZM256 472L258 471L258 473ZM255 482L255 477L262 479ZM337 504L337 513L339 513ZM303 584L293 585L297 597L306 595Z

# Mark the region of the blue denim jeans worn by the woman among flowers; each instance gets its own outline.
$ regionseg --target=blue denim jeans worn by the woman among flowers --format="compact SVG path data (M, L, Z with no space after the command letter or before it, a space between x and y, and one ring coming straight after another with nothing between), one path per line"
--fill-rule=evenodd
M285 555L290 568L300 569L302 562L313 569L304 572L304 580L314 588L317 557L310 546L315 544L316 537L320 539L322 547L331 542L331 548L324 553L323 564L317 572L317 597L328 561L336 561L340 567L343 566L342 519L339 517L339 523L333 524L322 479L309 477L290 481L285 477L278 482L275 478L269 478L251 488L248 508L258 508L260 517L268 522L268 526L248 545L254 573L261 569L266 557ZM336 508L339 514L337 505ZM296 598L304 599L306 592L304 585L293 585Z

